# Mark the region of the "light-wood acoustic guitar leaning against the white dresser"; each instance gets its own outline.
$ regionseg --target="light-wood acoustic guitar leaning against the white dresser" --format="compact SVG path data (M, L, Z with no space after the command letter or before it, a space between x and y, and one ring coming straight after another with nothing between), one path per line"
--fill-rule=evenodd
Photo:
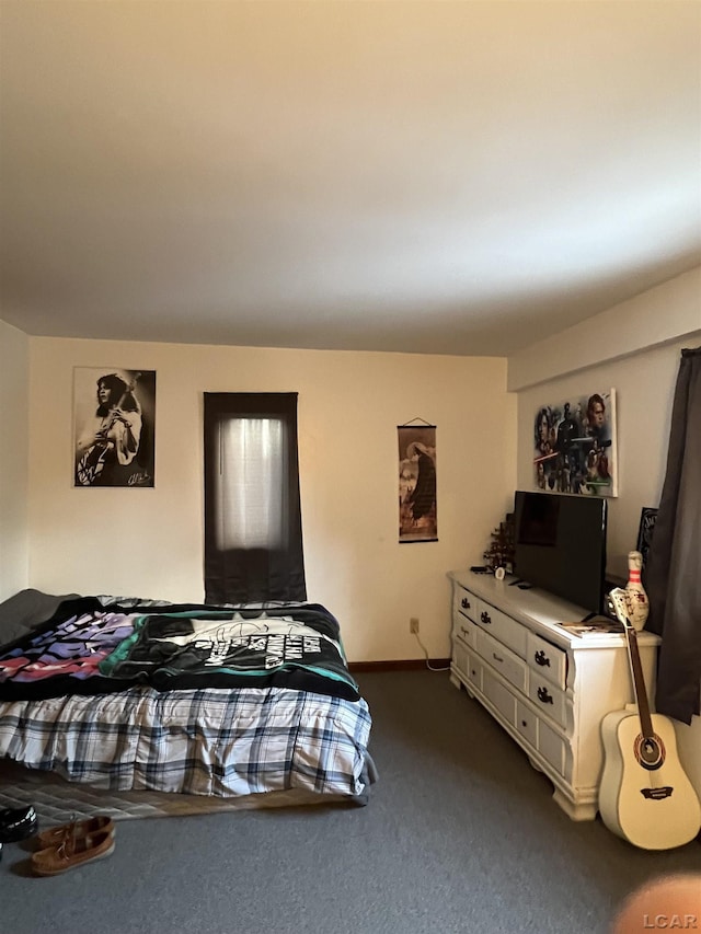
M701 807L679 762L674 724L668 717L650 713L627 593L617 588L609 596L625 629L635 705L613 711L601 722L599 812L610 831L634 846L670 850L697 835Z

